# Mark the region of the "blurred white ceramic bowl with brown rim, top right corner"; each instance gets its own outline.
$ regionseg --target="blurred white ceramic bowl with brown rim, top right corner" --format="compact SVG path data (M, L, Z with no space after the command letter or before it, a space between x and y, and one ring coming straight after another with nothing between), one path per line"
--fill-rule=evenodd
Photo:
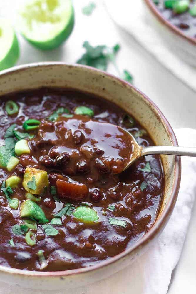
M143 0L145 16L158 35L173 53L191 66L196 66L196 38L185 35L182 30L166 20L152 0Z

